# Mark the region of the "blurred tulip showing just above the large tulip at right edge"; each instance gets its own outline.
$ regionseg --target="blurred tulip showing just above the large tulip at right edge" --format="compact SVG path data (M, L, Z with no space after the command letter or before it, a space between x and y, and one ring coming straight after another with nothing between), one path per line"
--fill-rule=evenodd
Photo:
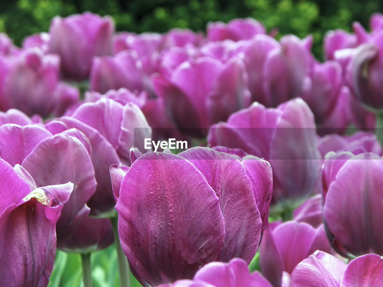
M319 151L324 158L328 152L349 151L357 155L364 152L372 152L383 155L381 144L371 132L359 131L353 135L330 134L319 138Z

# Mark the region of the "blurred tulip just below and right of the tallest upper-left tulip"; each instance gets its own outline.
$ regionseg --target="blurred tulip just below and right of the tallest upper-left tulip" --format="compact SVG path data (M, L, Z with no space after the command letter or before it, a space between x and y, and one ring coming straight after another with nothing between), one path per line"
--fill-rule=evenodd
M90 71L90 90L100 93L119 88L142 91L145 77L135 51L121 51L113 57L95 57Z

